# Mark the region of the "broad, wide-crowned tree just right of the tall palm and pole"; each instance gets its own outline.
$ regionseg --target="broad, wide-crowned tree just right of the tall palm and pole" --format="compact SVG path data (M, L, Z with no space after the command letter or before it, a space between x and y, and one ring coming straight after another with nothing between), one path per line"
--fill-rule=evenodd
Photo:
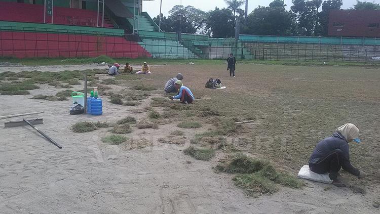
M258 35L293 35L295 23L292 14L285 10L282 0L273 1L269 7L258 7L249 14L243 33Z

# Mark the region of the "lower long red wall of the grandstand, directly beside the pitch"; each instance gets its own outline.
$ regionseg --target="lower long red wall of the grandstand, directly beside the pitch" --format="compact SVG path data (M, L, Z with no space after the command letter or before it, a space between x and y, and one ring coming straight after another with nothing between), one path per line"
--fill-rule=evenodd
M151 57L121 36L0 31L1 57Z

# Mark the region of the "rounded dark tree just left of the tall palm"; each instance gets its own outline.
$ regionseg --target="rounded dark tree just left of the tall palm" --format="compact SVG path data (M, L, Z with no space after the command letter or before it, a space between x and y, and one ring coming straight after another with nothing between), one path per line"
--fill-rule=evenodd
M215 8L209 12L207 27L212 32L214 38L227 38L235 35L235 17L230 9Z

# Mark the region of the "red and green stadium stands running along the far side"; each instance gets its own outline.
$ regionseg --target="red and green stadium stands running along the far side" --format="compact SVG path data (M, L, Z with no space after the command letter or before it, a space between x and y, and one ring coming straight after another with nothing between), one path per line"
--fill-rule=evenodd
M0 57L226 59L233 53L238 59L367 62L380 56L380 42L375 37L211 38L163 32L143 11L143 3L0 0ZM344 27L346 32L349 25ZM371 27L370 33L378 35L380 28L376 27Z

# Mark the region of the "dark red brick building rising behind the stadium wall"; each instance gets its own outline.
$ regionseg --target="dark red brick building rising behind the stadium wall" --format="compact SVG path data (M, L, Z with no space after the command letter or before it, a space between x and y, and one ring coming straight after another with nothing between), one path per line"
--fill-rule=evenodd
M329 14L328 35L380 37L380 11L333 10Z

